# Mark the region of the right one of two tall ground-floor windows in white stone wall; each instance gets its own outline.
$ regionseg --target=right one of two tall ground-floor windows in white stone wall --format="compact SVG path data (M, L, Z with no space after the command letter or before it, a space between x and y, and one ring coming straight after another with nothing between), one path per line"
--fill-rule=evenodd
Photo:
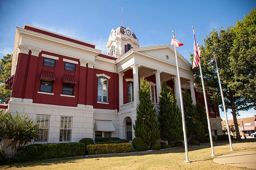
M61 117L59 141L70 142L71 141L71 119L72 117Z

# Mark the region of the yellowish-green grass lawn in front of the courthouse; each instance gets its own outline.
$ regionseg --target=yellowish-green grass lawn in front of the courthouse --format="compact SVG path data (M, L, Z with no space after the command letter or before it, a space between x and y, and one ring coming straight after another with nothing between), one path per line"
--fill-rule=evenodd
M249 170L249 168L221 165L214 158L235 152L256 150L256 138L241 142L233 141L234 151L228 142L214 143L211 155L210 144L189 147L189 161L185 163L184 148L171 148L154 152L117 154L112 156L72 157L32 161L0 166L4 170Z

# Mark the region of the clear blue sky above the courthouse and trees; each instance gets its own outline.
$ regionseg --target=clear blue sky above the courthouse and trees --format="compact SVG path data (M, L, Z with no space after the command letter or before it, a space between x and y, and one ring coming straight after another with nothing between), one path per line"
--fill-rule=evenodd
M0 0L0 58L13 52L15 27L24 24L91 42L106 53L111 28L121 26L121 6L123 26L130 27L141 47L170 44L174 31L184 44L178 52L189 60L189 52L193 53L192 26L198 43L204 44L203 39L213 28L234 26L256 7L256 1ZM255 110L241 112L241 117L254 114Z

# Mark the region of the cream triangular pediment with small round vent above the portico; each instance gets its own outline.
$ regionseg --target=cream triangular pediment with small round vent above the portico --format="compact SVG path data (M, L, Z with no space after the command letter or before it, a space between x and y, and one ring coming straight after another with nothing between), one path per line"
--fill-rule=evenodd
M144 55L156 58L163 62L167 62L176 66L175 51L170 45L159 45L159 46L147 46L135 48L134 51L142 53ZM180 53L177 52L178 65L181 68L190 69L191 64L184 58Z

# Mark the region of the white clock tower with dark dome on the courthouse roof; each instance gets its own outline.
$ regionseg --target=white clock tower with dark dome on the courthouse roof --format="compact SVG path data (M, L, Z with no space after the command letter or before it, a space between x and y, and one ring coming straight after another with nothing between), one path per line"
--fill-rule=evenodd
M139 42L136 35L129 27L118 27L111 29L107 44L108 55L120 57L132 48L138 48Z

